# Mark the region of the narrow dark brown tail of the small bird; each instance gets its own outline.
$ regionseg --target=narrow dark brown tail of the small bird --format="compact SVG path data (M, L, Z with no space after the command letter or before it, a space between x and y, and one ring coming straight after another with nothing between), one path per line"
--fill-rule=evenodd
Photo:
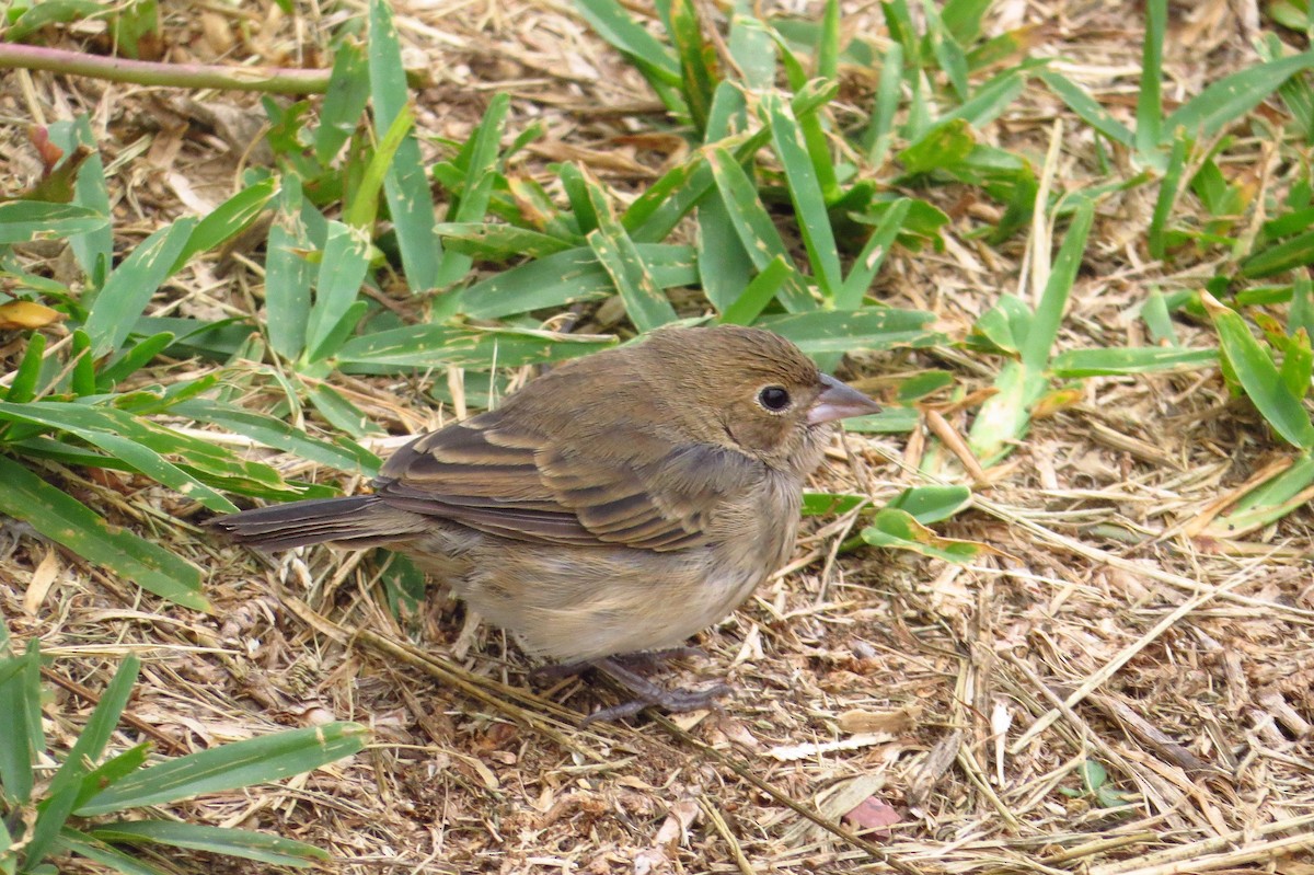
M405 540L423 531L419 514L389 507L378 495L311 498L218 516L206 526L263 550L285 550L332 541L365 548Z

